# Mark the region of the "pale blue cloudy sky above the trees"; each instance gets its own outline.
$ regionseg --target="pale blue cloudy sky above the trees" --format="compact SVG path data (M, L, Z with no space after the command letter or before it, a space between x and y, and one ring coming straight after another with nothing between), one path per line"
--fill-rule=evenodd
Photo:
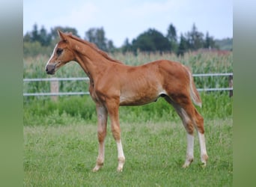
M23 34L42 26L76 28L80 37L90 28L104 28L106 38L120 47L149 28L166 35L173 24L177 35L207 31L214 39L233 37L232 0L23 0Z

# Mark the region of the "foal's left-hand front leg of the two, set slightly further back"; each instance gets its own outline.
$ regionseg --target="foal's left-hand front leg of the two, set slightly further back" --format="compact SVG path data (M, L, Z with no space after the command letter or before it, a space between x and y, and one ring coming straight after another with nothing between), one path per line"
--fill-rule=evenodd
M98 141L99 141L99 155L97 156L96 166L93 171L99 171L103 167L105 156L105 138L106 138L106 125L108 119L108 112L102 105L97 105L97 119L98 119Z

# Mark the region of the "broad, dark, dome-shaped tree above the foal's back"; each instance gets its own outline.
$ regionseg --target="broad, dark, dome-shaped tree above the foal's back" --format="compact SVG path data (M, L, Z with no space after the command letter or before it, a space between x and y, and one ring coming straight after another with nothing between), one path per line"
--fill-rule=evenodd
M171 50L171 44L162 33L150 28L132 40L132 49L134 52L137 49L144 52L164 52Z

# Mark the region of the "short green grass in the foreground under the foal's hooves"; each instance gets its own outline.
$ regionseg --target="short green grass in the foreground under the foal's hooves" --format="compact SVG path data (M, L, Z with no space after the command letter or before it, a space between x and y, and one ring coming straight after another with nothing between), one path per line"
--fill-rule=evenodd
M110 128L105 165L93 173L96 124L25 126L24 186L232 186L232 123L231 118L205 120L209 162L200 167L195 135L195 160L186 169L182 123L122 123L127 159L122 173L116 171L117 149Z

